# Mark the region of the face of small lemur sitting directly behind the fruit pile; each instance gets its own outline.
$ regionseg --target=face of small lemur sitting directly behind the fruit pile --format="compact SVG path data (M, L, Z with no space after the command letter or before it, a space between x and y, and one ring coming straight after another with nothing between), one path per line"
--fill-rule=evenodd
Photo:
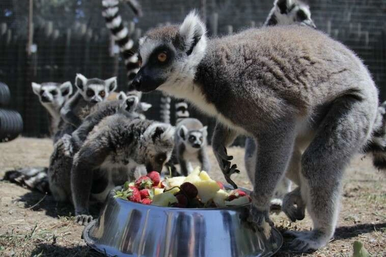
M188 130L184 125L181 125L178 136L184 142L186 150L195 151L206 145L207 126L199 130Z

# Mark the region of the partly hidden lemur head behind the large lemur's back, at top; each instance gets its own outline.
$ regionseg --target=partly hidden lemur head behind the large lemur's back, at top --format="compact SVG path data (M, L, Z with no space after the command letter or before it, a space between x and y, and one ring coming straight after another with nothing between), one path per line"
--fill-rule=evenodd
M300 0L275 0L264 25L300 24L316 28L310 6Z

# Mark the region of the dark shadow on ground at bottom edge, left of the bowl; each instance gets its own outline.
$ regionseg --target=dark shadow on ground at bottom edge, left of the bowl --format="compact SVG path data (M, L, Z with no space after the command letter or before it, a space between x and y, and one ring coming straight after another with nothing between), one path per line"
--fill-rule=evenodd
M36 256L107 257L106 254L99 253L94 249L90 248L89 246L65 247L65 246L59 246L54 244L39 244L32 251L30 256L31 257L36 257Z

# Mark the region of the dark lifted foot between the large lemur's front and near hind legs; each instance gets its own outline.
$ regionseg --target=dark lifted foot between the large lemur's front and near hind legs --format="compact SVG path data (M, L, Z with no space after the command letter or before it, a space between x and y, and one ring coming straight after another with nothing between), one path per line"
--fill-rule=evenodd
M301 198L300 188L296 188L284 196L282 210L292 222L304 219L306 205Z

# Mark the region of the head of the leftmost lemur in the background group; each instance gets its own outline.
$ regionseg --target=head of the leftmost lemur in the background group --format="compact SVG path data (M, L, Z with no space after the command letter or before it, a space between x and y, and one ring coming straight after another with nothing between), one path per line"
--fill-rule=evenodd
M70 81L66 81L63 84L56 82L38 84L32 82L32 90L39 97L42 105L57 109L60 108L72 94L72 84Z

